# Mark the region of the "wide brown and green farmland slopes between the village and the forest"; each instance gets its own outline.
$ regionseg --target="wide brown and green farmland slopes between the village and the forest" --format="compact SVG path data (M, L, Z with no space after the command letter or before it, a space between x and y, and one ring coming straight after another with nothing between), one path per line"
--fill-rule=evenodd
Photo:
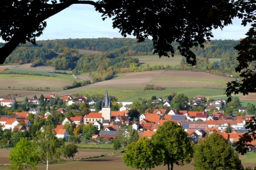
M140 56L140 58L144 57L145 56ZM40 95L41 93L49 93L47 91L33 91L32 93L31 89L36 89L40 87L42 89L45 89L45 87L49 87L50 91L56 91L59 96L72 93L83 93L84 95L104 94L104 91L108 89L109 94L115 96L121 102L132 102L138 97L149 98L152 95L156 95L156 97L161 97L164 95L168 95L172 92L184 93L188 97L204 95L205 97L214 99L225 97L224 93L226 83L228 81L232 81L232 78L230 77L222 77L210 73L177 70L156 70L151 72L118 73L114 76L113 79L109 81L96 82L88 86L83 86L81 88L68 89L63 91L63 86L71 85L73 81L79 80L75 79L72 75L42 71L49 71L51 69L51 67L33 68L29 65L15 65L15 68L13 68L13 65L10 65L9 70L6 71L12 70L13 72L28 72L41 74L45 73L46 75L54 77L1 74L0 81L4 83L0 84L0 89L4 90L0 91L0 95L6 95L9 93L21 93L21 97L18 97L17 100L22 100L25 95L28 95L28 97L32 97L33 94ZM89 73L82 73L81 75L77 75L77 77L84 81L88 79L92 80L92 77L90 77ZM165 90L144 91L143 88L147 86L147 84L161 86L165 88ZM8 92L6 91L7 89ZM26 91L27 89L29 89L29 91ZM247 105L247 102L250 102L252 100L256 101L255 94L250 94L248 96L241 95L241 101L244 101L243 105Z

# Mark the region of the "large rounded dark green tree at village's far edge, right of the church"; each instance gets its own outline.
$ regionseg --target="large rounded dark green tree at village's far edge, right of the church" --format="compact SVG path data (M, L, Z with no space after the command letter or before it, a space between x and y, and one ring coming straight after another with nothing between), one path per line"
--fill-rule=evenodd
M179 93L178 95L175 95L175 97L172 99L172 108L177 109L177 111L187 110L189 107L189 105L186 103L187 101L188 97L186 97L182 93Z

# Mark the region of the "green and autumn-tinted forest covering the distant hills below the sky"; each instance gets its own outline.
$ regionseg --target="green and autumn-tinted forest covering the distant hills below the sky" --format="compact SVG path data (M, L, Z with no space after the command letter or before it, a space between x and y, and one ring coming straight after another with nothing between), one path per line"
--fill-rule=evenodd
M73 73L93 72L93 81L111 79L115 73L140 72L148 70L191 70L209 72L217 75L233 75L238 65L237 51L234 46L239 40L211 40L205 43L204 49L193 47L197 64L191 66L182 58L180 65L152 65L142 66L139 59L131 56L153 55L154 46L151 40L138 43L134 38L83 38L66 40L44 40L37 45L27 43L19 45L4 64L32 63L31 66L54 66L58 70L72 70ZM4 43L0 43L0 47ZM179 55L178 43L172 43L175 54ZM79 54L78 50L92 50L99 54ZM158 58L157 54L156 58ZM216 59L219 58L219 59ZM215 59L215 60L214 60ZM250 63L254 66L255 63Z

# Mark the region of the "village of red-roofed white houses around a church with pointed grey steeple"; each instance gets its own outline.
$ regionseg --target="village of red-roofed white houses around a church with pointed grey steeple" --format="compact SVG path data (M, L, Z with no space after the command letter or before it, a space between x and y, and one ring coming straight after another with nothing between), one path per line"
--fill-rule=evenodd
M49 93L47 97L44 97L44 102L50 102L56 98L56 94ZM15 98L0 97L1 107L13 107L15 105ZM46 111L42 111L40 107L40 98L28 98L28 103L33 104L34 107L28 107L27 112L13 112L13 114L0 115L0 124L2 130L10 131L26 131L31 128L33 122L38 120L47 121L49 124L52 121L52 114L58 114L59 117L63 118L63 121L57 123L52 123L53 133L58 138L63 138L68 140L70 136L81 135L81 127L84 125L93 125L97 127L97 134L91 134L91 141L93 143L99 142L100 138L104 138L105 143L110 143L111 139L115 139L118 132L122 127L132 126L132 129L138 132L139 137L151 138L153 134L156 133L157 128L159 128L165 121L175 121L181 125L187 132L189 139L193 143L198 143L200 140L204 140L206 134L211 134L212 132L218 132L218 134L223 135L227 141L231 144L236 143L240 137L248 129L245 128L246 121L252 119L251 114L246 114L245 116L236 115L225 115L224 111L220 111L221 105L225 105L227 101L224 98L218 98L212 102L208 102L208 106L205 111L185 111L175 108L170 108L170 101L167 99L158 98L152 100L152 104L156 104L161 101L163 107L166 109L154 109L152 112L145 112L138 116L138 118L130 118L129 110L131 109L132 102L123 102L122 107L119 111L111 111L112 104L109 99L108 91L106 91L105 97L102 100L101 111L95 112L95 104L99 101L96 99L88 100L86 97L73 98L71 95L58 97L61 103L65 102L66 107L60 107L52 112L52 108L48 107ZM86 104L88 101L88 107L90 107L90 112L83 115L83 111L79 110L79 107L72 107L74 105ZM188 101L191 107L196 107L196 105L202 104L202 101L209 100L203 96L196 96L193 100ZM213 111L209 114L211 105L214 105L219 111ZM69 111L67 107L69 106ZM246 107L239 107L239 112L246 111ZM67 112L69 112L67 114ZM72 114L70 114L72 112ZM61 116L60 116L61 115ZM32 116L32 117L31 117ZM51 117L51 120L49 118ZM31 120L32 119L32 120ZM32 122L31 122L32 121ZM73 133L68 131L67 127L73 125ZM43 129L44 126L40 127ZM74 132L76 128L80 128L80 132ZM250 144L256 146L256 141L252 141ZM252 148L255 150L255 148ZM251 149L250 149L251 150Z

